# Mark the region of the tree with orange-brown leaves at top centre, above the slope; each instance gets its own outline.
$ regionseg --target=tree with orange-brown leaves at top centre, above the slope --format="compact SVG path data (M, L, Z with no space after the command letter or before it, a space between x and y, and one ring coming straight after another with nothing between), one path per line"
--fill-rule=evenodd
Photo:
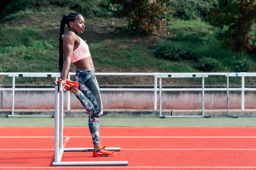
M110 0L114 14L125 17L128 27L144 33L160 30L165 25L169 0Z

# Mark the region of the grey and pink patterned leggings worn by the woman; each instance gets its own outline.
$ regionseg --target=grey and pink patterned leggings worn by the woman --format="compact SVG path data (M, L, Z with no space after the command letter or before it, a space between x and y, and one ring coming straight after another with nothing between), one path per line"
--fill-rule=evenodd
M90 70L77 69L74 81L80 84L80 91L76 93L76 97L89 113L89 129L93 138L93 144L100 143L99 117L103 115L103 106L94 68Z

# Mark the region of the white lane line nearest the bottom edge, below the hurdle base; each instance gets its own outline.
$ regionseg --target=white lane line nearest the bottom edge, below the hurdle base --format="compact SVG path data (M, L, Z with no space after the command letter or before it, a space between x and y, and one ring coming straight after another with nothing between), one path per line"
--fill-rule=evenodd
M118 166L118 167L107 167L107 166L101 166L100 168L256 168L256 167L127 167L127 166ZM89 167L81 167L81 166L76 166L76 167L71 167L71 166L67 166L67 167L61 167L61 166L57 166L57 167L0 167L1 168L99 168L99 166L89 166Z

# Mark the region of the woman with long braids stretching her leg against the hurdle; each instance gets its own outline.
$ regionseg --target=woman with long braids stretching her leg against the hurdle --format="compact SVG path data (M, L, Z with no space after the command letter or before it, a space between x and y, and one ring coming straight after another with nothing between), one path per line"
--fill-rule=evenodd
M65 24L68 31L64 34ZM93 139L93 156L112 156L115 151L105 150L99 140L99 117L103 114L99 84L95 77L93 60L88 45L78 37L84 32L84 17L79 13L64 15L61 20L59 40L59 71L63 89L71 91L89 113L89 129ZM70 63L76 66L74 81L67 79Z

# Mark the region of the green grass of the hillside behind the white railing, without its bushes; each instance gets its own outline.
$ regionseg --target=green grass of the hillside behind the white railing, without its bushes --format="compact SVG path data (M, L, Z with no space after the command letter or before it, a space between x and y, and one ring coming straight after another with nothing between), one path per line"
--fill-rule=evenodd
M67 7L42 7L26 9L0 23L0 72L58 72L59 25L63 14L70 12ZM236 54L223 50L216 39L220 30L201 20L172 20L167 31L159 35L142 37L128 34L127 22L114 17L85 18L86 31L81 38L87 40L97 72L201 72L198 62L189 59L167 60L155 56L159 41L180 45L183 49L215 57L221 63L218 72L233 72L237 59L250 61L250 72L256 57L249 54ZM255 27L255 26L254 26ZM253 27L253 28L254 28ZM169 34L168 34L169 33ZM252 34L252 33L251 33ZM234 57L233 57L234 56ZM71 65L71 72L75 71ZM104 78L105 84L120 85L122 82ZM33 83L51 85L53 79L19 78L17 84ZM234 85L240 80L230 79ZM178 81L180 82L180 81ZM187 79L182 85L200 85L200 81ZM206 84L224 85L223 78L208 78ZM9 85L12 79L0 79L0 84ZM246 85L255 85L253 78L246 79ZM139 84L137 84L139 85ZM179 85L176 80L169 85Z

